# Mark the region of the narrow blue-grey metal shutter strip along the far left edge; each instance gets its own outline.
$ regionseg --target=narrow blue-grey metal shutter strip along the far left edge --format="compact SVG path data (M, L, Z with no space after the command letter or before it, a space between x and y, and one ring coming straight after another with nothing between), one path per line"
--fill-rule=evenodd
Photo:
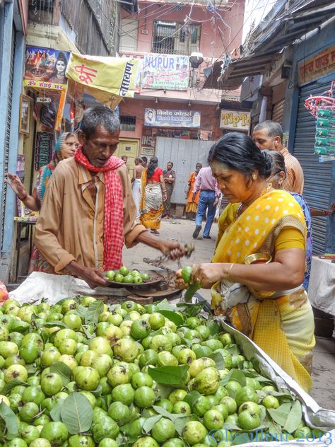
M9 61L10 69L10 79L9 79L9 92L8 92L8 104L6 110L6 139L5 139L5 150L4 150L4 173L8 170L8 156L9 156L9 137L11 134L11 100L13 92L13 74L14 74L14 52L15 52L15 29L13 29L13 38L11 41L11 60ZM0 230L1 230L1 241L4 240L4 219L5 219L5 207L6 207L6 190L7 183L4 182L2 188L1 197L1 220L0 220ZM1 247L2 249L2 247Z

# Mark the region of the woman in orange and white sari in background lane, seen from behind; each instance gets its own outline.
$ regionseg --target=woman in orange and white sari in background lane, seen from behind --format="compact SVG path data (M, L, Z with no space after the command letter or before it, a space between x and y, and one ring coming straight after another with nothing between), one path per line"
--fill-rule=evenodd
M164 211L163 202L167 199L163 170L158 168L158 158L151 157L148 169L141 175L141 218L142 225L158 234L160 219Z

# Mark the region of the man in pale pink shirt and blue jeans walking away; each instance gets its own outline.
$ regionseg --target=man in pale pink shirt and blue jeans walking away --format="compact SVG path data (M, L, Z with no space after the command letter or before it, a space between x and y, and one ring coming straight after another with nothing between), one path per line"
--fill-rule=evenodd
M201 231L201 224L206 215L207 219L204 228L204 239L211 239L209 232L214 220L216 204L221 197L221 191L218 189L216 178L213 177L211 166L201 168L199 174L196 176L193 189L193 199L196 197L196 193L200 191L199 204L196 211L196 228L193 233L193 238L196 239Z

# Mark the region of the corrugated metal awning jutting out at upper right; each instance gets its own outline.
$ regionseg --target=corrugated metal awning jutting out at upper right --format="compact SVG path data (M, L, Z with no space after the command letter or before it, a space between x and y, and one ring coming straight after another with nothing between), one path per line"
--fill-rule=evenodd
M285 11L271 19L269 13L254 33L250 35L247 47L239 59L231 62L222 72L223 61L213 65L211 75L205 81L204 88L237 88L247 76L264 74L276 62L278 54L308 31L334 17L335 1L295 1Z

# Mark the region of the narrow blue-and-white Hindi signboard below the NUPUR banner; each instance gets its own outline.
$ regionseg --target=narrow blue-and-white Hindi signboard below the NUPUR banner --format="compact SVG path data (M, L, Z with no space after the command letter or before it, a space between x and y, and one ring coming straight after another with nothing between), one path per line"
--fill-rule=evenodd
M144 125L150 127L200 127L199 110L146 109Z

